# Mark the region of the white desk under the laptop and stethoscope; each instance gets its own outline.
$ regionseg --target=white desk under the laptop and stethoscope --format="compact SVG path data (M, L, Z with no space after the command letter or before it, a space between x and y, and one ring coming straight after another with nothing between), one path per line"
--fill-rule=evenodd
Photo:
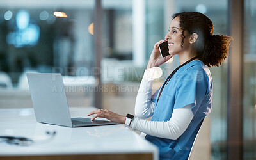
M72 107L72 117L86 117L93 107ZM46 138L29 146L0 142L0 159L158 159L157 148L122 124L61 127L36 122L33 108L0 109L0 136Z

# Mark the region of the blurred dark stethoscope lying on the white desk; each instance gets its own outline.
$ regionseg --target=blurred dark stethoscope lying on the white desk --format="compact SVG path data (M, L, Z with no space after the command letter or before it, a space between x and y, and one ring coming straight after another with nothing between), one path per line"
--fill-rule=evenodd
M46 136L38 136L36 138L26 138L22 136L0 136L0 142L5 142L8 145L19 145L19 146L28 146L33 143L45 142L51 140L56 135L56 131L46 131Z

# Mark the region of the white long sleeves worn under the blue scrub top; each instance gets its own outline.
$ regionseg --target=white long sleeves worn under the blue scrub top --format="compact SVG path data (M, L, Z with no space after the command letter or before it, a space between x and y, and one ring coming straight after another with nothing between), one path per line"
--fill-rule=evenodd
M130 127L151 136L176 140L186 131L194 117L191 111L191 105L174 109L172 117L167 122L140 119L151 117L155 108L155 103L151 101L153 81L147 80L147 72L148 70L145 70L143 79L141 80L135 103L136 117L132 120Z

